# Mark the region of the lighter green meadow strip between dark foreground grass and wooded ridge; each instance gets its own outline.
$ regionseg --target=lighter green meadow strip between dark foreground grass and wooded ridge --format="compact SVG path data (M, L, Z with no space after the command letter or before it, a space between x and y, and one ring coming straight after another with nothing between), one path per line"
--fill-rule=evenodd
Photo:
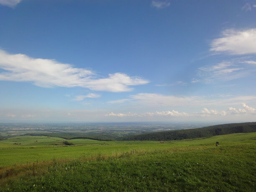
M47 138L44 138L45 136L41 137L42 141L45 142ZM20 136L18 138L20 138L20 141L23 140L24 144L27 145L20 145L17 148L13 148L13 146L16 145L12 144L12 148L0 149L0 167L27 162L49 161L52 159L77 159L81 157L88 158L91 156L97 156L98 154L111 156L126 153L131 150L151 152L180 146L214 145L216 141L219 141L221 145L224 141L252 142L256 140L256 133L236 133L223 136L214 136L210 138L165 141L164 143L160 143L159 141L96 141L97 143L95 143L95 140L89 139L68 140L71 143L84 146L63 146L64 144L62 144L62 146L48 146L47 143L40 144L41 141L38 138L34 138L38 140L38 146L32 146L29 142L31 142L33 138L28 138L28 136ZM30 141L28 142L26 139ZM50 142L54 139L55 138L49 138ZM2 145L2 142L0 142L0 146ZM32 144L33 143L34 142L32 140Z

